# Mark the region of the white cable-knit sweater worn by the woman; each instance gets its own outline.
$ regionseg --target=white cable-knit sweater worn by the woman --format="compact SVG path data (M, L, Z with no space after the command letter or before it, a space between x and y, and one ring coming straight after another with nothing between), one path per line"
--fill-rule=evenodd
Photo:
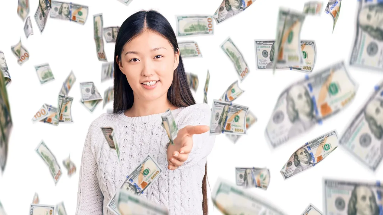
M196 104L172 111L178 129L187 125L210 125L207 104ZM209 131L193 135L189 157L176 170L169 170L169 137L161 126L161 115L128 117L121 113L102 114L90 124L85 140L77 194L76 215L113 215L106 206L134 168L151 154L162 174L141 196L164 205L169 215L202 215L202 178L205 163L215 141ZM118 138L120 162L100 127L111 126Z

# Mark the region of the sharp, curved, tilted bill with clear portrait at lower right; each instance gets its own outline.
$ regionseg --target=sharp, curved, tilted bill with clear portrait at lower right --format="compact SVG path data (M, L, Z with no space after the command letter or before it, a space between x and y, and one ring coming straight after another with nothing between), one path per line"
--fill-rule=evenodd
M338 147L335 130L306 142L296 150L281 170L283 179L291 178L304 170L314 167Z

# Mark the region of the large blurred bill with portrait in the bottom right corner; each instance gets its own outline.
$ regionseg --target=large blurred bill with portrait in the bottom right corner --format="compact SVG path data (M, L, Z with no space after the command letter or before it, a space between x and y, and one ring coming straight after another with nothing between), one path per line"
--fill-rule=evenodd
M380 215L383 213L380 181L323 180L323 210L329 215Z

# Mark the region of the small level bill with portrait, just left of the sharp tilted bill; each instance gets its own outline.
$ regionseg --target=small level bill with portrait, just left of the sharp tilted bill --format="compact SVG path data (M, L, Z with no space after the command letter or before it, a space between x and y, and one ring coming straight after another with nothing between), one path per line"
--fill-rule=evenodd
M237 186L266 190L270 183L270 171L267 168L236 167L236 182Z

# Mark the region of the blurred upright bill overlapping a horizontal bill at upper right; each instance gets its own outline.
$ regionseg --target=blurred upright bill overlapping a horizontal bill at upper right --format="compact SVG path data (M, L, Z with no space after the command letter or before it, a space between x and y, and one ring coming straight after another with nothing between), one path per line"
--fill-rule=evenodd
M274 68L277 66L303 66L300 34L304 18L305 16L298 11L279 9L275 39L277 54L273 59Z

